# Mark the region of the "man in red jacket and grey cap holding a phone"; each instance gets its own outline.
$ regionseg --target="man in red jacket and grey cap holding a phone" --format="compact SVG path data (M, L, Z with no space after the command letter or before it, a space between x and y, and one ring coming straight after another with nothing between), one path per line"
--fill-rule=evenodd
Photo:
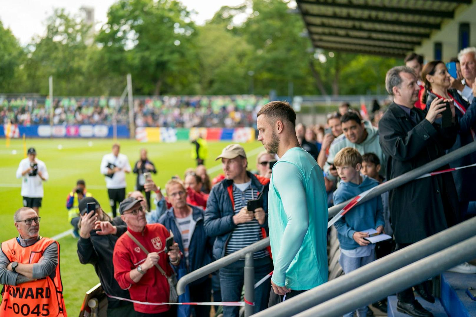
M170 267L180 263L178 244L165 253L169 231L161 224L147 224L141 199L126 198L119 205L121 219L127 224L127 231L144 246L149 254L129 237L123 234L116 242L112 262L114 278L122 289L129 289L130 298L140 302L169 302L169 282L156 264L170 276L175 274ZM143 305L134 303L136 316L171 317L175 307L169 305Z

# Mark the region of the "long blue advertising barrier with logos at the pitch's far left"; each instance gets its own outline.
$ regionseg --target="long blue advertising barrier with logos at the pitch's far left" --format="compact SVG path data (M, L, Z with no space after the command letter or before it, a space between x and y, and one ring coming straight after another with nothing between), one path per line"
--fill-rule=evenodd
M83 125L31 125L5 124L0 129L0 137L11 139L21 138L25 134L28 138L112 138L114 126L103 124ZM117 126L118 138L129 138L129 128L126 125Z

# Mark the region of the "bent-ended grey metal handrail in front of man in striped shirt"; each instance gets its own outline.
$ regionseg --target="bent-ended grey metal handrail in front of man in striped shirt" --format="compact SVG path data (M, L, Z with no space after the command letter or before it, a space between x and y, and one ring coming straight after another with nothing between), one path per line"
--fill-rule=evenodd
M188 273L187 275L184 275L178 280L178 283L177 283L178 295L185 293L185 286L197 280L198 278L204 277L210 273L215 272L216 270L222 267L226 267L230 265L231 263L238 261L239 259L245 258L247 253L259 251L264 248L267 248L268 246L269 246L269 237L261 239L258 242L255 242L249 245L246 248L242 248L241 250L238 250L223 258L213 261L204 267L200 267L196 269L195 271Z

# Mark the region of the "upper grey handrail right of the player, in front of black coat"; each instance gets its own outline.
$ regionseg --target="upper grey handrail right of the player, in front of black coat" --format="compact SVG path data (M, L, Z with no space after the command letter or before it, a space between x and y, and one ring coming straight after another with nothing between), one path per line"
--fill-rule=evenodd
M470 153L473 153L474 151L476 151L476 142L471 142L466 144L464 147L454 150L453 152L448 153L440 158L436 158L435 160L428 162L419 168L415 168L403 175L398 176L397 178L390 179L385 183L378 185L374 190L367 194L367 196L362 198L362 200L360 200L357 205L377 197L386 191L389 191L390 189L397 188L398 186L408 183L409 181L412 181L425 173L432 172L436 168L448 164L455 159L462 158ZM329 208L329 218L334 217L340 211L340 209L344 208L350 202L350 200L351 199Z

